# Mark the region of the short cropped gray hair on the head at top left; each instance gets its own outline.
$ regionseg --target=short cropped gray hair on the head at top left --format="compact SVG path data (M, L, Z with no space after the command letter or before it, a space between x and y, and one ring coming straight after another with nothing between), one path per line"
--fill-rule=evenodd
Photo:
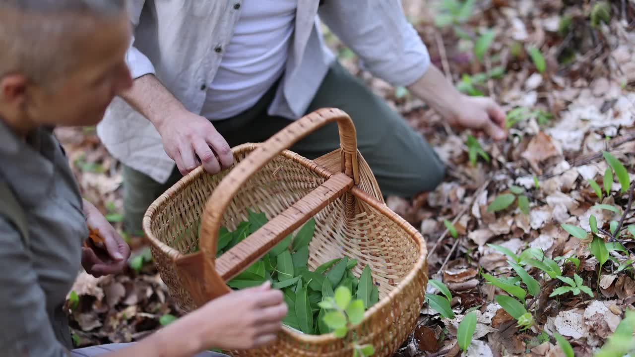
M86 19L125 9L126 0L0 0L0 78L21 73L48 84L72 68L72 39Z

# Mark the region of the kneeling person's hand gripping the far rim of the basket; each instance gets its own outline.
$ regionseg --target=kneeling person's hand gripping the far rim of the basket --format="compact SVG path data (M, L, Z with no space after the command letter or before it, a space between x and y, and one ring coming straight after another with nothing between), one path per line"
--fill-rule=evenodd
M157 130L165 152L177 163L182 175L201 164L206 172L215 174L234 163L234 155L225 138L202 116L179 111L164 120Z

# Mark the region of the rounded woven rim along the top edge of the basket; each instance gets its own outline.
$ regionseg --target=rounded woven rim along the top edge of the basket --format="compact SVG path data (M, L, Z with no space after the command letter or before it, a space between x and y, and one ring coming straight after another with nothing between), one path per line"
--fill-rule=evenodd
M242 151L243 149L253 150L258 145L259 145L258 143L241 144L234 147L232 151L238 152L238 151ZM283 155L288 159L292 159L296 161L297 163L300 163L301 165L318 173L318 175L324 177L324 179L329 179L333 175L332 172L330 172L323 166L320 166L314 161L312 161L311 159L304 158L304 156L301 156L300 154L297 154L293 151L284 150L280 152L279 155ZM157 249L161 250L163 253L168 255L170 259L175 260L180 257L184 257L186 255L184 255L181 252L178 252L178 250L174 248L171 248L170 246L166 245L165 243L157 239L156 236L154 236L154 233L150 229L150 223L151 223L152 217L154 217L156 212L159 212L159 210L163 208L163 206L166 205L173 196L183 191L185 187L187 187L187 185L190 184L190 182L198 179L201 175L206 175L206 172L204 172L203 166L197 167L195 170L193 170L192 172L185 175L182 179L180 179L177 182L177 184L173 185L172 187L170 187L170 189L168 189L166 192L161 194L161 196L159 196L159 198L157 198L154 201L154 203L150 205L150 208L148 208L147 212L144 215L143 228L145 231L146 238ZM422 236L422 234L410 223L404 220L403 217L393 212L391 208L389 208L387 205L385 205L384 203L380 203L380 201L373 198L372 196L370 196L370 194L362 191L358 187L352 187L351 191L349 192L351 192L351 194L353 194L353 196L355 196L356 198L359 198L362 201L364 201L364 203L375 208L375 210L380 212L382 215L385 215L386 217L391 219L394 223L396 223L399 227L401 227L401 229L406 231L412 238L414 238L414 240L417 241L417 244L419 246L418 259L415 262L415 264L413 264L408 274L406 274L402 278L402 280L398 283L398 285L394 286L394 289L390 293L388 293L387 296L385 296L383 299L380 299L377 304L371 306L368 310L366 310L366 312L364 313L363 320L358 325L356 325L356 327L353 327L353 330L354 330L355 328L363 325L364 322L366 322L366 320L368 320L368 318L370 318L370 316L373 315L376 311L379 311L387 304L390 304L395 295L401 292L401 290L403 290L405 286L410 285L410 283L415 278L417 272L424 269L425 262L427 260L427 246L425 245L425 239ZM327 343L333 342L333 340L338 340L338 337L335 337L335 333L332 333L332 332L324 333L321 335L310 335L307 333L295 332L294 330L291 330L291 328L288 328L284 325L283 325L283 330L281 330L280 333L284 335L288 335L289 337L295 340L298 340L302 343L307 343L307 344L327 344Z

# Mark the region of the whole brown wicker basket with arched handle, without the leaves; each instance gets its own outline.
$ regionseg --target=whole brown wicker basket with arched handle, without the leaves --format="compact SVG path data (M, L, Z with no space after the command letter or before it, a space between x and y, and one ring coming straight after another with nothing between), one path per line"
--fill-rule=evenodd
M331 121L338 124L340 149L315 160L286 150ZM380 300L352 330L359 344L373 344L375 356L392 356L415 328L424 302L427 250L417 229L385 205L358 152L351 118L338 109L320 109L262 144L239 145L233 152L234 168L208 175L199 167L147 210L144 232L171 295L192 311L231 292L226 281L314 217L309 267L345 255L358 259L353 273L359 278L370 265ZM269 222L215 257L220 227L235 229L248 209L266 213ZM351 343L351 337L308 335L284 327L268 346L225 353L349 357Z

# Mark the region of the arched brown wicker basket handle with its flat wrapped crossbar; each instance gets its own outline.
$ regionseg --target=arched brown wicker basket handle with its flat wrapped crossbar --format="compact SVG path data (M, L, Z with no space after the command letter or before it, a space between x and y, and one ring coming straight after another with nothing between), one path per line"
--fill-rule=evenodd
M342 173L333 175L283 213L273 217L258 231L225 252L217 261L217 240L224 212L239 189L277 154L332 121L338 123L342 149ZM208 299L230 292L225 281L250 266L290 232L311 219L321 208L344 195L354 184L358 184L358 170L355 126L351 118L340 109L326 108L314 111L286 126L259 145L218 184L204 208L199 238L199 248L203 253L203 262L199 263L203 266L199 267L203 269L203 281L206 285L204 290ZM347 201L352 203L352 200Z

